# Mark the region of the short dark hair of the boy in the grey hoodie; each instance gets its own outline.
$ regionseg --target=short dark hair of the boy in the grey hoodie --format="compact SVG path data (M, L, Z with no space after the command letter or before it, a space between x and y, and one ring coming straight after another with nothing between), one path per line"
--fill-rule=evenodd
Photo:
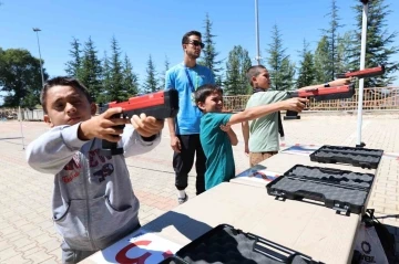
M74 89L79 89L80 92L82 92L85 97L88 98L89 103L91 104L93 102L92 97L89 94L89 91L86 87L84 87L84 85L79 82L76 78L73 77L68 77L68 76L58 76L54 78L50 78L45 82L41 93L40 93L40 103L43 107L43 112L47 114L47 105L45 105L45 98L47 98L47 92L57 85L62 85L62 86L71 86Z

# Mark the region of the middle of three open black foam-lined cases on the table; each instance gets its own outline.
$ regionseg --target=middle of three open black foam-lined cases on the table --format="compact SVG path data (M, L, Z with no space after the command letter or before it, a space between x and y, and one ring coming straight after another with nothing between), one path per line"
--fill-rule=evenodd
M296 165L266 186L277 199L321 201L337 213L364 213L375 176Z

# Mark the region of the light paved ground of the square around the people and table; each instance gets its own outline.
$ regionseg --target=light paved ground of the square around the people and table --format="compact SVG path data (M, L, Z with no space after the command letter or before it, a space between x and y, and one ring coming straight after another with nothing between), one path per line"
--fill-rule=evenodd
M356 116L303 114L300 120L284 122L289 144L356 145ZM22 123L24 144L48 128L43 123ZM237 172L247 169L241 127L234 147ZM0 263L60 263L60 237L51 221L53 177L35 172L25 162L21 124L0 122ZM142 224L177 205L172 150L165 126L161 145L152 152L127 159L133 188L141 201ZM366 115L362 140L369 148L399 152L399 114ZM190 197L195 196L195 172L190 176ZM382 158L369 208L397 236L399 249L399 160Z

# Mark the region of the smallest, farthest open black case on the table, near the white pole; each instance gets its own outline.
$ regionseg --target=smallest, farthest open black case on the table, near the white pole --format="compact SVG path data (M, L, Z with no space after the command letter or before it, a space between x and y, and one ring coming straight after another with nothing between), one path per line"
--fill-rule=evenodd
M311 161L323 163L348 163L356 167L377 169L383 150L325 145L310 155Z

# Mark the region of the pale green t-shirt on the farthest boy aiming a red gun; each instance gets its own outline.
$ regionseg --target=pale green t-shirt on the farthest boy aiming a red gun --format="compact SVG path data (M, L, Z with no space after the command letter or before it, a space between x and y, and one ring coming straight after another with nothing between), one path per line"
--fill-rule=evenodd
M258 92L249 97L246 109L254 106L277 103L287 99L288 97L287 92ZM252 120L249 124L249 133L248 147L250 152L278 151L277 112Z

